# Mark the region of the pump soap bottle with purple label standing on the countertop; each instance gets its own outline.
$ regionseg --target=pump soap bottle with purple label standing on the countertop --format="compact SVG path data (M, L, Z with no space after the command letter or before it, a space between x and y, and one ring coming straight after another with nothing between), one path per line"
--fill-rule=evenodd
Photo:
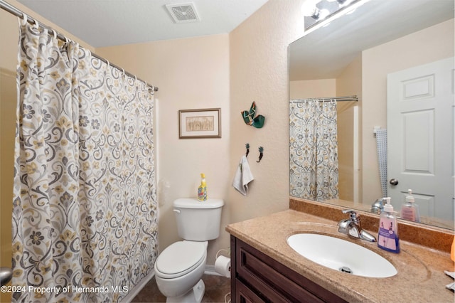
M390 204L390 197L384 198L384 209L380 214L378 247L389 252L400 252L400 242L398 238L397 216Z

